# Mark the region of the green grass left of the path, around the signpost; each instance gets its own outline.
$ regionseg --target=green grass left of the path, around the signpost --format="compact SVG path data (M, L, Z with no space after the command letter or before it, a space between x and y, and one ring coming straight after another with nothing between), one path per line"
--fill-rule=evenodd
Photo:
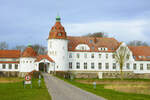
M30 85L24 89L22 80L0 78L0 100L51 100L43 79L41 88L38 87L38 80L33 79L32 89Z

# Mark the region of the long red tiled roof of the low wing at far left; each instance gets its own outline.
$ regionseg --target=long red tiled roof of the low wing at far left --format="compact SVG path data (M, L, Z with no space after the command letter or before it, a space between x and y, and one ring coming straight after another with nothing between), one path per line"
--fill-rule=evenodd
M0 58L19 58L20 50L0 50Z

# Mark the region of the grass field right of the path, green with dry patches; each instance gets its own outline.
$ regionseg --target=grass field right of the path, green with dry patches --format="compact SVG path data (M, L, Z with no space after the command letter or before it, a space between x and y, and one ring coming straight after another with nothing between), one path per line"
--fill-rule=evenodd
M111 85L115 85L116 82L121 82L121 83L129 83L129 82L133 82L138 84L139 82L150 82L150 80L119 80L119 79L104 79L104 80L99 80L99 79L75 79L74 81L70 81L70 80L66 80L65 81L81 88L84 89L86 91L92 92L96 95L102 96L104 98L106 98L107 100L150 100L150 95L146 95L146 94L137 94L137 93L127 93L127 92L121 92L112 88L106 88L106 86L111 86ZM83 83L81 82L83 81ZM86 81L86 83L85 83ZM97 84L96 89L93 88L93 81L96 81L99 83L101 82L101 84ZM88 83L89 82L89 83ZM120 83L120 84L121 84ZM118 86L120 86L120 84L118 84ZM126 87L126 85L123 85L124 87ZM132 87L132 86L131 86ZM147 88L149 89L149 88Z

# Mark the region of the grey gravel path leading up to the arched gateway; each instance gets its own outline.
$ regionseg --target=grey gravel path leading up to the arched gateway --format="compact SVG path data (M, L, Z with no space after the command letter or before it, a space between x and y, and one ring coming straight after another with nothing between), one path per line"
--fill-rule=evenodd
M52 100L104 100L50 74L43 73L43 76Z

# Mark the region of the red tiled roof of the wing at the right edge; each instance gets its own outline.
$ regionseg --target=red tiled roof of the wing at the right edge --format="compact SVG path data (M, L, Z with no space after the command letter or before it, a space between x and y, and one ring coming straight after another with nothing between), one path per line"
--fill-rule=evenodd
M150 47L149 46L128 46L132 51L135 60L150 61Z

